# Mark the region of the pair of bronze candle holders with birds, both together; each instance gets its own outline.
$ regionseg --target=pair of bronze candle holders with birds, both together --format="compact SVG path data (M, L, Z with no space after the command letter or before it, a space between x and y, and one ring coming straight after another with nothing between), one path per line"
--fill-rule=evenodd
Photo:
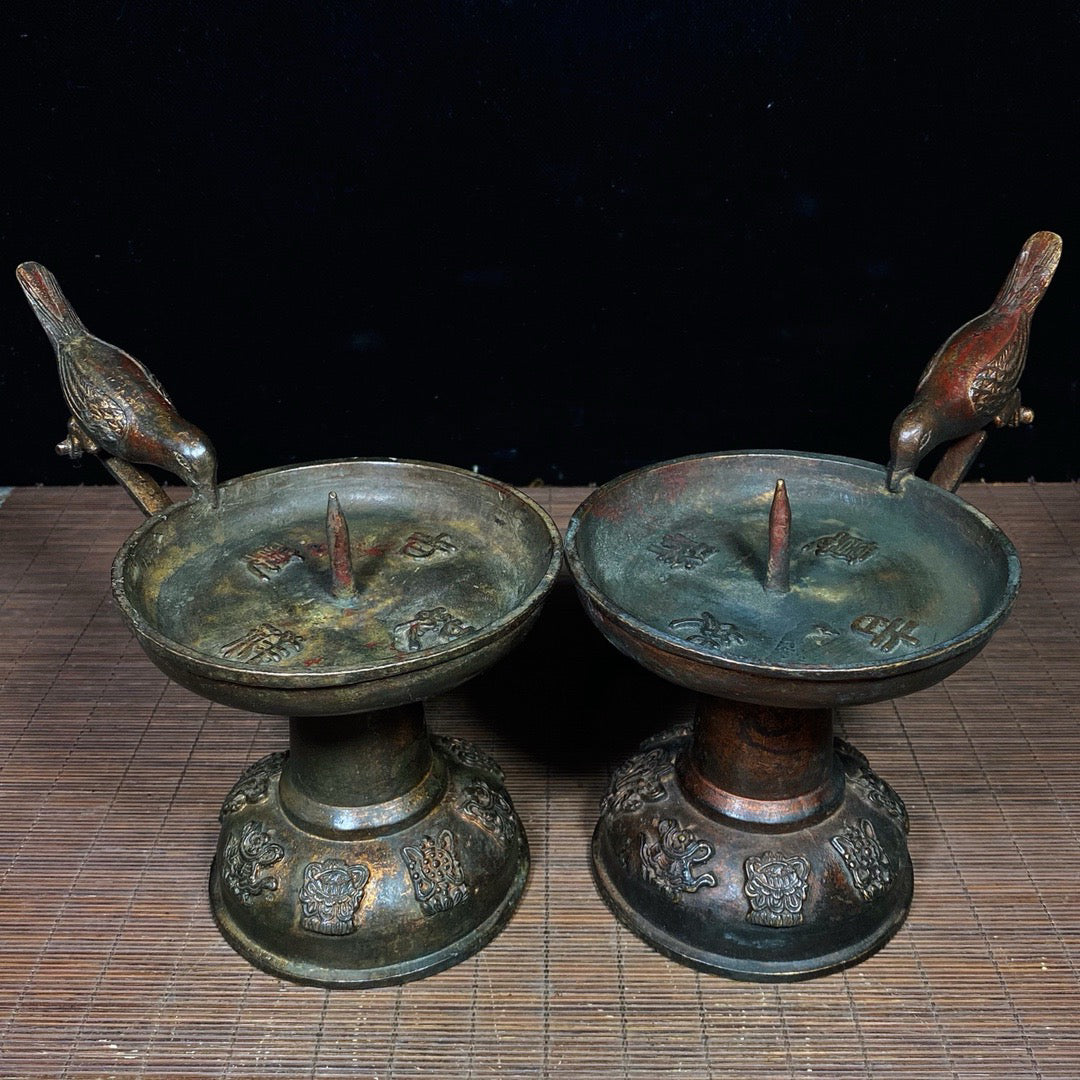
M903 922L907 813L834 740L834 711L944 678L1012 605L1015 550L953 492L988 426L1031 419L1017 382L1059 252L1031 237L994 306L939 350L888 469L703 455L618 477L573 514L567 562L593 622L699 693L691 726L615 771L593 838L600 894L660 951L801 978ZM143 648L212 701L289 717L288 752L221 807L210 892L227 941L328 987L475 953L521 897L525 832L498 764L430 735L420 702L536 621L563 559L551 518L505 484L396 459L218 485L210 442L146 368L91 335L44 268L17 273L71 411L57 449L99 455L147 514L112 570ZM915 477L942 443L931 482ZM141 464L192 497L172 503Z

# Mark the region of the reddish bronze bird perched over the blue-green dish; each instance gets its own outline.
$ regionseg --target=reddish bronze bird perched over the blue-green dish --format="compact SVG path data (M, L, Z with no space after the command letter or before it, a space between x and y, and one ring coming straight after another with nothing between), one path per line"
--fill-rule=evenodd
M1031 313L1062 256L1054 232L1029 237L994 303L961 326L934 353L896 417L890 435L887 484L897 491L905 476L942 443L951 442L930 477L955 491L986 441L986 428L1030 423L1017 383L1027 356Z

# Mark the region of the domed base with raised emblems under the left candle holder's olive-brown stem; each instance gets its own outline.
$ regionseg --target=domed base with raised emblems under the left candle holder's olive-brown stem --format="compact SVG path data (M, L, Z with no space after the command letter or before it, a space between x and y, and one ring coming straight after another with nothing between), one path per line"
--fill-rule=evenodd
M449 968L499 932L525 888L524 829L495 761L459 739L432 748L408 797L346 829L291 814L286 754L244 772L210 876L214 918L241 956L298 983L374 987Z

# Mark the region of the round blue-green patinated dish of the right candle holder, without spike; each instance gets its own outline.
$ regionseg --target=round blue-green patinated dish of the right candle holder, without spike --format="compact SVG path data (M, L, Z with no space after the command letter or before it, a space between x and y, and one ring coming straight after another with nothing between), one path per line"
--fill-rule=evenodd
M767 588L778 477L786 590ZM893 698L986 644L1020 562L957 496L885 482L880 465L784 451L662 462L590 496L567 556L605 633L680 685L788 707Z

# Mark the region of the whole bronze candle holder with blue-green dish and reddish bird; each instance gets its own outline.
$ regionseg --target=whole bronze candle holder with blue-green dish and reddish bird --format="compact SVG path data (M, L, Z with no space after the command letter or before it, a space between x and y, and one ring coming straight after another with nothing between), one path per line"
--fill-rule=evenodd
M615 772L597 887L660 951L734 978L854 963L913 895L907 812L835 710L912 693L987 643L1020 585L1008 538L955 488L1016 382L1061 241L1032 237L995 307L957 332L893 429L887 470L785 451L666 461L594 491L567 559L624 653L698 692L696 719ZM951 440L935 477L912 475Z

